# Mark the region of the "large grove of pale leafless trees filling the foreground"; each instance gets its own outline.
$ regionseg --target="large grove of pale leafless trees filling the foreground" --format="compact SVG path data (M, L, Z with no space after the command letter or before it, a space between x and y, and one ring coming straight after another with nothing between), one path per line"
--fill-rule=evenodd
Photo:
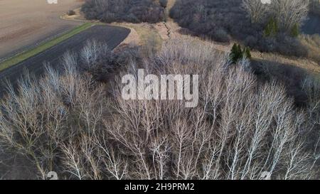
M298 110L283 85L260 85L247 60L230 65L213 44L194 39L169 41L143 62L130 60L108 83L78 71L74 58L65 55L63 74L48 68L39 82L27 77L18 95L12 89L1 102L1 145L32 161L40 178L48 171L72 179L317 176L319 140L306 141L311 132L319 136L316 82L304 82L311 103ZM135 75L138 67L198 74L198 107L122 99L120 75Z

